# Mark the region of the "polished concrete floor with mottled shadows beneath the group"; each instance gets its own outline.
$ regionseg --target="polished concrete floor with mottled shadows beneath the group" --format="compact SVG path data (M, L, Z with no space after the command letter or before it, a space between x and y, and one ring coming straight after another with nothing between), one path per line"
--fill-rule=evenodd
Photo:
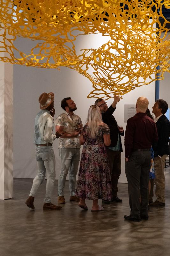
M60 211L43 211L46 184L35 198L35 211L25 204L31 179L14 179L14 198L0 201L1 256L143 256L170 255L170 168L166 173L166 205L151 208L149 220L128 222L127 184L119 184L122 203L105 204L102 212L88 211L69 202L66 182L66 204ZM52 202L56 204L56 188ZM101 203L101 201L100 201Z

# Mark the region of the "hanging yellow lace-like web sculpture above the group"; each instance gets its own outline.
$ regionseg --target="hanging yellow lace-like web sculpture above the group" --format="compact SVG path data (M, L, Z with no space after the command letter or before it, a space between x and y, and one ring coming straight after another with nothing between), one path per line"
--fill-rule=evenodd
M0 60L66 66L92 82L89 98L121 96L169 71L170 22L163 7L170 9L169 0L1 0ZM96 33L109 36L108 42L78 56L78 36ZM34 41L29 54L15 47L17 36Z

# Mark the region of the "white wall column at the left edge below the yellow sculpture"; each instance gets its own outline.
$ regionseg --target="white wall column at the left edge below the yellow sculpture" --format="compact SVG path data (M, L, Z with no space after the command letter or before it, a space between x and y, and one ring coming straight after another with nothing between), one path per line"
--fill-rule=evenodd
M12 197L13 65L0 61L0 200Z

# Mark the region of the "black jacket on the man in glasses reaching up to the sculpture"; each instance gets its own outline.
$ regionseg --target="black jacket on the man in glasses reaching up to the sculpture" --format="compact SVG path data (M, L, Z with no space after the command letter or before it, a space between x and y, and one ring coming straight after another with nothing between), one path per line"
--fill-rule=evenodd
M120 151L122 150L122 142L120 135L124 135L124 132L120 133L117 129L117 122L115 120L115 117L112 115L116 108L113 108L112 105L107 109L105 113L102 113L102 120L105 124L108 125L110 128L110 139L111 144L109 147L115 147L117 145L118 136L120 138Z

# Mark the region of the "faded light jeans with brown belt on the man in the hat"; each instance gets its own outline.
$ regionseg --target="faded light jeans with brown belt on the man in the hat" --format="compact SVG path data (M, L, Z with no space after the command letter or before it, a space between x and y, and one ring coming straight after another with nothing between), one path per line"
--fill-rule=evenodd
M51 202L55 181L55 155L52 146L37 146L35 147L35 157L38 166L38 174L33 180L33 186L30 191L30 196L35 197L37 189L43 183L47 171L47 185L44 202Z

